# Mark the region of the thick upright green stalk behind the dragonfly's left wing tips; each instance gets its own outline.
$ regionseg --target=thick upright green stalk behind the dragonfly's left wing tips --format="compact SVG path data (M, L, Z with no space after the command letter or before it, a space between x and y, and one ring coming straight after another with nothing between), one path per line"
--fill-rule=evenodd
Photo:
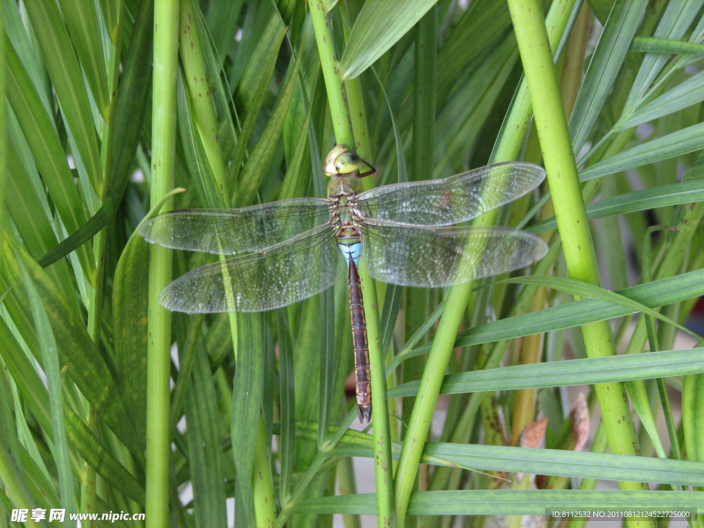
M173 187L176 139L176 78L179 1L154 4L154 75L151 146L151 195L156 203ZM168 205L167 205L168 207ZM169 381L171 313L159 305L171 281L171 250L150 247L149 341L146 379L146 526L169 525Z

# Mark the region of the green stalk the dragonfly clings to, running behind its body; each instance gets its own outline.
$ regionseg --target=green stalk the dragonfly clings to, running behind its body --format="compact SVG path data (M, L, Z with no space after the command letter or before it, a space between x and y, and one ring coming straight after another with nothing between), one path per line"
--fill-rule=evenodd
M363 108L350 108L346 99L344 84L338 75L337 60L334 54L332 34L327 26L324 3L320 0L310 2L310 18L313 21L315 41L318 44L320 65L325 78L327 100L332 115L332 125L335 132L335 142L347 146L357 146L354 142L350 111L355 115L363 115ZM358 91L360 92L360 91ZM361 105L359 97L353 103ZM368 135L363 127L365 139ZM360 151L369 151L369 146L360 144ZM363 296L366 299L367 341L369 344L369 360L372 382L372 421L374 427L375 449L375 482L377 487L377 524L379 528L395 526L394 522L394 480L391 477L391 434L389 426L389 406L386 398L386 368L384 356L379 342L379 310L375 284L367 275L364 267L360 268L360 282Z

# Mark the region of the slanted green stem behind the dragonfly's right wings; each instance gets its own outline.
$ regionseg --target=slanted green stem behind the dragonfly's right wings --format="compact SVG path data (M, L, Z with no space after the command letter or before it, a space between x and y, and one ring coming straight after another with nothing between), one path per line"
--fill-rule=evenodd
M553 2L548 13L549 27L551 27L551 41L557 45L562 32L565 30L574 0L561 0ZM491 154L491 163L510 161L518 155L527 126L530 122L531 101L527 92L527 84L523 80L517 90L515 102L511 113L502 127L501 141L498 142ZM474 222L475 225L492 225L496 212L483 215ZM462 321L467 301L470 298L472 283L460 284L452 287L446 299L445 309L438 324L438 331L429 353L428 364L423 372L423 377L418 389L416 406L413 409L406 439L403 442L401 457L394 482L396 483L396 520L399 526L406 515L410 494L413 492L415 474L420 463L425 437L427 436L435 403L439 396L440 386L449 363L455 338ZM477 402L478 403L478 402ZM465 411L471 415L474 410ZM468 424L470 420L465 421ZM467 427L469 427L467 425ZM438 468L439 470L444 468ZM437 473L437 472L436 472ZM444 472L445 477L449 472Z

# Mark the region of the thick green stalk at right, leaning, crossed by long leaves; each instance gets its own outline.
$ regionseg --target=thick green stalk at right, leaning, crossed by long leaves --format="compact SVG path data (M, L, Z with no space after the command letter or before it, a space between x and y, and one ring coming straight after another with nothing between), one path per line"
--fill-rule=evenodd
M567 270L574 279L598 285L596 253L586 221L577 165L541 9L533 0L508 0L508 6L532 94L536 129L543 146L548 183L555 197L555 217ZM608 321L585 325L582 335L590 358L615 355ZM638 444L623 384L598 384L595 390L612 453L637 455ZM620 487L647 489L645 484L631 482L622 482Z

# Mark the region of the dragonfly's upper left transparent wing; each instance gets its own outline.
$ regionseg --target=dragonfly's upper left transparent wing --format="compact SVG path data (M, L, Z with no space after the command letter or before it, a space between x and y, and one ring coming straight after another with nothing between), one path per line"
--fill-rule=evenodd
M324 225L330 219L328 200L296 198L241 209L185 209L147 220L139 234L152 243L236 255L280 244Z

